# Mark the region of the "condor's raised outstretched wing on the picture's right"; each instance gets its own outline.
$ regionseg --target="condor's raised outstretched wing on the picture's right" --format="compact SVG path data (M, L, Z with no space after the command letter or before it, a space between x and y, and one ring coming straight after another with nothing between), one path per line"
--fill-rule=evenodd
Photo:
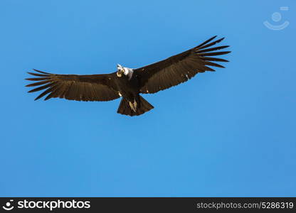
M213 58L212 56L224 55L231 52L212 52L229 47L226 45L216 48L208 48L224 39L221 38L211 42L214 38L216 38L216 36L183 53L171 56L170 58L166 58L165 60L154 64L135 69L134 72L140 80L140 92L159 92L160 90L186 82L199 72L215 71L213 68L208 66L223 67L222 65L218 65L212 61L228 62L228 60Z

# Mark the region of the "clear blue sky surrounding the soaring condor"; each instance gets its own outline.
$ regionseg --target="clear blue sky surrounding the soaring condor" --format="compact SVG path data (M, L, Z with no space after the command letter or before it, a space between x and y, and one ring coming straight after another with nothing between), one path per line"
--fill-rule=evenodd
M292 0L1 0L0 195L295 196L295 9ZM142 116L117 114L120 99L34 102L24 87L32 68L114 72L213 35L231 45L226 69L144 95L155 108Z

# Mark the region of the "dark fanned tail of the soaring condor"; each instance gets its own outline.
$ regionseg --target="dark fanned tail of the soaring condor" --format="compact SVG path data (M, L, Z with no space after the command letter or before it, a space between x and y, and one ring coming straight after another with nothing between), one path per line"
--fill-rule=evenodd
M139 96L139 101L134 101L134 103L129 102L125 98L122 98L117 113L126 114L129 116L138 116L153 108L154 107L141 96Z

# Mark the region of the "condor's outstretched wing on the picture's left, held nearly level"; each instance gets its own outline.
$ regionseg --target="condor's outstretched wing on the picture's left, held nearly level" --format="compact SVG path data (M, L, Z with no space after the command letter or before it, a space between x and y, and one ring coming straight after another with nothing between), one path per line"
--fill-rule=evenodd
M59 97L69 100L94 102L110 101L119 98L114 84L115 74L106 75L57 75L35 70L28 74L37 76L26 80L37 81L26 87L37 87L29 92L46 89L35 100L47 95L44 100Z

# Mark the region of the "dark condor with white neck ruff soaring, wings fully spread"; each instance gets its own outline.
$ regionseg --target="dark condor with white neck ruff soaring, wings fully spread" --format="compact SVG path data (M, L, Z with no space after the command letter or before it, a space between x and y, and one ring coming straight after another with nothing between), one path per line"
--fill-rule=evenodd
M224 38L212 41L216 36L206 40L195 48L151 65L132 69L117 65L117 71L99 75L59 75L35 70L28 74L36 76L26 80L36 81L26 87L36 87L28 92L46 89L41 97L63 98L83 102L106 102L122 97L117 113L139 116L154 107L140 94L152 94L168 89L194 77L199 72L215 71L211 67L222 67L216 62L228 62L216 55L231 51L216 51L228 48L228 45L213 47Z

